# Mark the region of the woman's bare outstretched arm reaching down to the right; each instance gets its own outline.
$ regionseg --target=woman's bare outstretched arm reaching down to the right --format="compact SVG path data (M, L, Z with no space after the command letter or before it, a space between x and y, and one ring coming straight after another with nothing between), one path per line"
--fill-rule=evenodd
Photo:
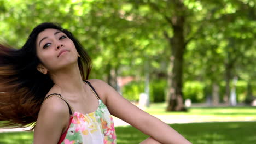
M101 80L91 80L92 85L97 86L95 89L103 94L105 104L113 116L123 119L133 127L141 130L144 134L152 137L144 143L190 143L176 130L172 129L160 119L149 115L137 106L131 104L123 98L111 86ZM143 142L142 142L143 143Z

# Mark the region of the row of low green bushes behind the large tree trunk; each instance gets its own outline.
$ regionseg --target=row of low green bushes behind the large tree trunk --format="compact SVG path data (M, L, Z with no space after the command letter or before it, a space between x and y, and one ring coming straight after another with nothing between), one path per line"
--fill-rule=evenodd
M232 84L232 83L231 83ZM139 101L139 94L144 92L144 81L132 81L122 88L123 96L130 101ZM150 81L149 96L152 102L162 102L166 100L167 80L155 79ZM230 86L232 87L232 85ZM252 84L253 95L255 95L255 83ZM212 86L200 81L187 81L183 84L183 98L191 99L193 103L206 101L207 95L212 95ZM225 82L219 84L219 100L222 102L225 95ZM237 102L246 100L247 82L237 81L236 85Z

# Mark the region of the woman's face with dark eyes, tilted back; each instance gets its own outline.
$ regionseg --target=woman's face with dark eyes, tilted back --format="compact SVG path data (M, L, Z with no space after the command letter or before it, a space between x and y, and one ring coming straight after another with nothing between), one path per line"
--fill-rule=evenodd
M56 71L77 62L78 53L67 35L57 29L45 29L36 40L37 56L44 68Z

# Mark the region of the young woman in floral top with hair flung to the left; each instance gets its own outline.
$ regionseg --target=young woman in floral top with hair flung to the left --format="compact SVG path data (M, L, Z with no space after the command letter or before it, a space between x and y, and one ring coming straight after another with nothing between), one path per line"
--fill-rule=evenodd
M0 121L33 124L34 144L117 143L113 115L149 136L141 143L190 143L107 83L88 80L90 70L82 45L55 23L38 25L19 50L0 45Z

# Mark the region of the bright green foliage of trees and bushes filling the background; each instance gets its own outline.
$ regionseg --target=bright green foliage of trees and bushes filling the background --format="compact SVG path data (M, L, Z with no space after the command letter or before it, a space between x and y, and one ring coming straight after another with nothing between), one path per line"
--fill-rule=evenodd
M206 92L211 94L210 83L223 83L229 71L230 79L237 75L244 81L237 83L237 99L245 100L246 83L256 81L255 1L184 0L183 4L184 39L188 42L183 64L184 98L204 101ZM167 1L148 0L0 0L0 41L20 48L34 26L58 22L74 33L92 57L90 78L106 80L113 69L118 69L118 76L142 77L148 58L150 75L160 79L158 74L167 75L174 52L163 33L173 37L174 29L166 20L174 20L175 7ZM164 80L152 80L150 100L164 100L165 89ZM125 86L123 93L137 101L141 92L144 82ZM224 93L225 83L220 85L221 98Z

